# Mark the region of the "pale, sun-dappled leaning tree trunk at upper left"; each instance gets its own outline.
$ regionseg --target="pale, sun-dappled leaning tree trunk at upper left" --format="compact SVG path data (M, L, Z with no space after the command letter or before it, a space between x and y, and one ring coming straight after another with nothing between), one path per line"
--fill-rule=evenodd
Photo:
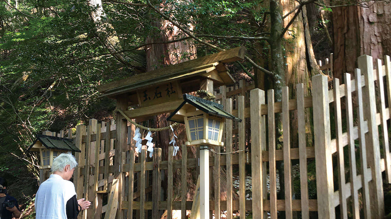
M135 67L136 70L143 72L145 68L144 55L138 52L120 52L124 49L117 36L117 32L115 32L113 25L111 25L110 20L106 17L102 0L88 0L87 2L91 7L90 16L95 23L96 33L106 48L113 53L113 57L126 66Z

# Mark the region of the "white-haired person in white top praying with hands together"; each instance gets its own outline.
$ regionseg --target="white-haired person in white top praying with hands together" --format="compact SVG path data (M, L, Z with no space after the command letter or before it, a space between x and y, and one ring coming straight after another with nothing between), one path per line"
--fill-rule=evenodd
M76 219L90 201L77 200L75 186L70 182L77 162L71 153L60 154L53 160L52 175L39 185L35 197L36 219Z

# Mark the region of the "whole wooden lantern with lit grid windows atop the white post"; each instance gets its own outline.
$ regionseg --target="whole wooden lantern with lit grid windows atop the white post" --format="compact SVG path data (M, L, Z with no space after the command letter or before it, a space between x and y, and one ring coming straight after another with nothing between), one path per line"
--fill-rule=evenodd
M167 120L185 124L187 145L222 146L222 129L226 119L242 120L223 110L221 104L184 94L184 101Z

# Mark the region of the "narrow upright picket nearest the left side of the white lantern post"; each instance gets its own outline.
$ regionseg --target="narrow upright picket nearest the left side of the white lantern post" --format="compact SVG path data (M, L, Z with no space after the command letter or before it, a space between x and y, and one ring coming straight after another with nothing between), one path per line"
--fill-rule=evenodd
M182 166L181 166L181 218L187 219L187 146L182 145Z

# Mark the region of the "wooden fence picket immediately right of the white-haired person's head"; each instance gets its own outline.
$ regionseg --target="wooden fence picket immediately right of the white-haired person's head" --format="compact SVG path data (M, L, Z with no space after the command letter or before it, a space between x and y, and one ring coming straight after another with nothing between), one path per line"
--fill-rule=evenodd
M83 143L81 143L81 138L83 135L86 134L86 126L85 125L77 125L76 126L76 140L75 145L78 147L81 152L75 153L75 158L79 166L75 168L74 172L74 184L75 184L75 190L77 197L82 198L83 197L83 178L80 177L81 173L81 167L84 166L84 156L86 154L86 149Z

